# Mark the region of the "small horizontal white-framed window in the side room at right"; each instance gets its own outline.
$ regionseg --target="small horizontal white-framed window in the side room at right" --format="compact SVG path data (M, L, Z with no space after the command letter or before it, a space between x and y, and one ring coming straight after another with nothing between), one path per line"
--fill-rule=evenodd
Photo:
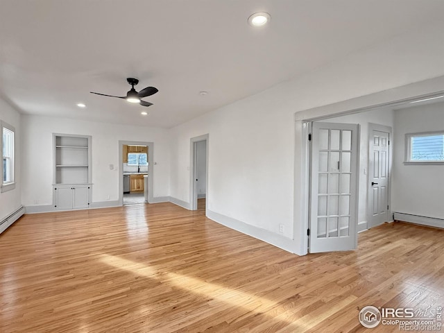
M406 135L407 163L444 163L444 131Z

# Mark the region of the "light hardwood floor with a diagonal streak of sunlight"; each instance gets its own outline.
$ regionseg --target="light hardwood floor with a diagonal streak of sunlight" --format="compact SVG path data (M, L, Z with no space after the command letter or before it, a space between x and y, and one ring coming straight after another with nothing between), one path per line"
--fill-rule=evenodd
M202 202L22 217L0 236L0 332L366 332L366 305L444 305L443 230L385 224L298 257Z

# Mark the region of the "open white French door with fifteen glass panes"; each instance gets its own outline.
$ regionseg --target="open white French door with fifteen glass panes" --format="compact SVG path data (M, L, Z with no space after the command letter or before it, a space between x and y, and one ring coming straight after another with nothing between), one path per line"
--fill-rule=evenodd
M314 122L309 252L357 246L357 124Z

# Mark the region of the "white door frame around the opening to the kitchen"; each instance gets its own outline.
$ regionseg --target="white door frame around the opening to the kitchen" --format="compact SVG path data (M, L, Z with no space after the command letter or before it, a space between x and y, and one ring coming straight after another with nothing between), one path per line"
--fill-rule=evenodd
M144 141L119 140L119 205L123 205L123 145L133 144L135 146L148 147L148 203L153 203L154 194L154 143Z

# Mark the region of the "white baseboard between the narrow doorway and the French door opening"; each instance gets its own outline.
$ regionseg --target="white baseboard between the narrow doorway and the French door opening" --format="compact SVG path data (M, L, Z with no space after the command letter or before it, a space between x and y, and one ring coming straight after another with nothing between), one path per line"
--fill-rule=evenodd
M265 241L268 244L282 248L289 253L295 253L300 255L295 251L295 244L293 239L281 236L280 234L275 234L274 232L256 227L255 225L250 225L245 222L233 219L232 217L225 216L211 210L207 210L207 218L212 219L214 222L225 225L225 227L237 230L243 234L248 234L248 236L254 237L261 241Z

